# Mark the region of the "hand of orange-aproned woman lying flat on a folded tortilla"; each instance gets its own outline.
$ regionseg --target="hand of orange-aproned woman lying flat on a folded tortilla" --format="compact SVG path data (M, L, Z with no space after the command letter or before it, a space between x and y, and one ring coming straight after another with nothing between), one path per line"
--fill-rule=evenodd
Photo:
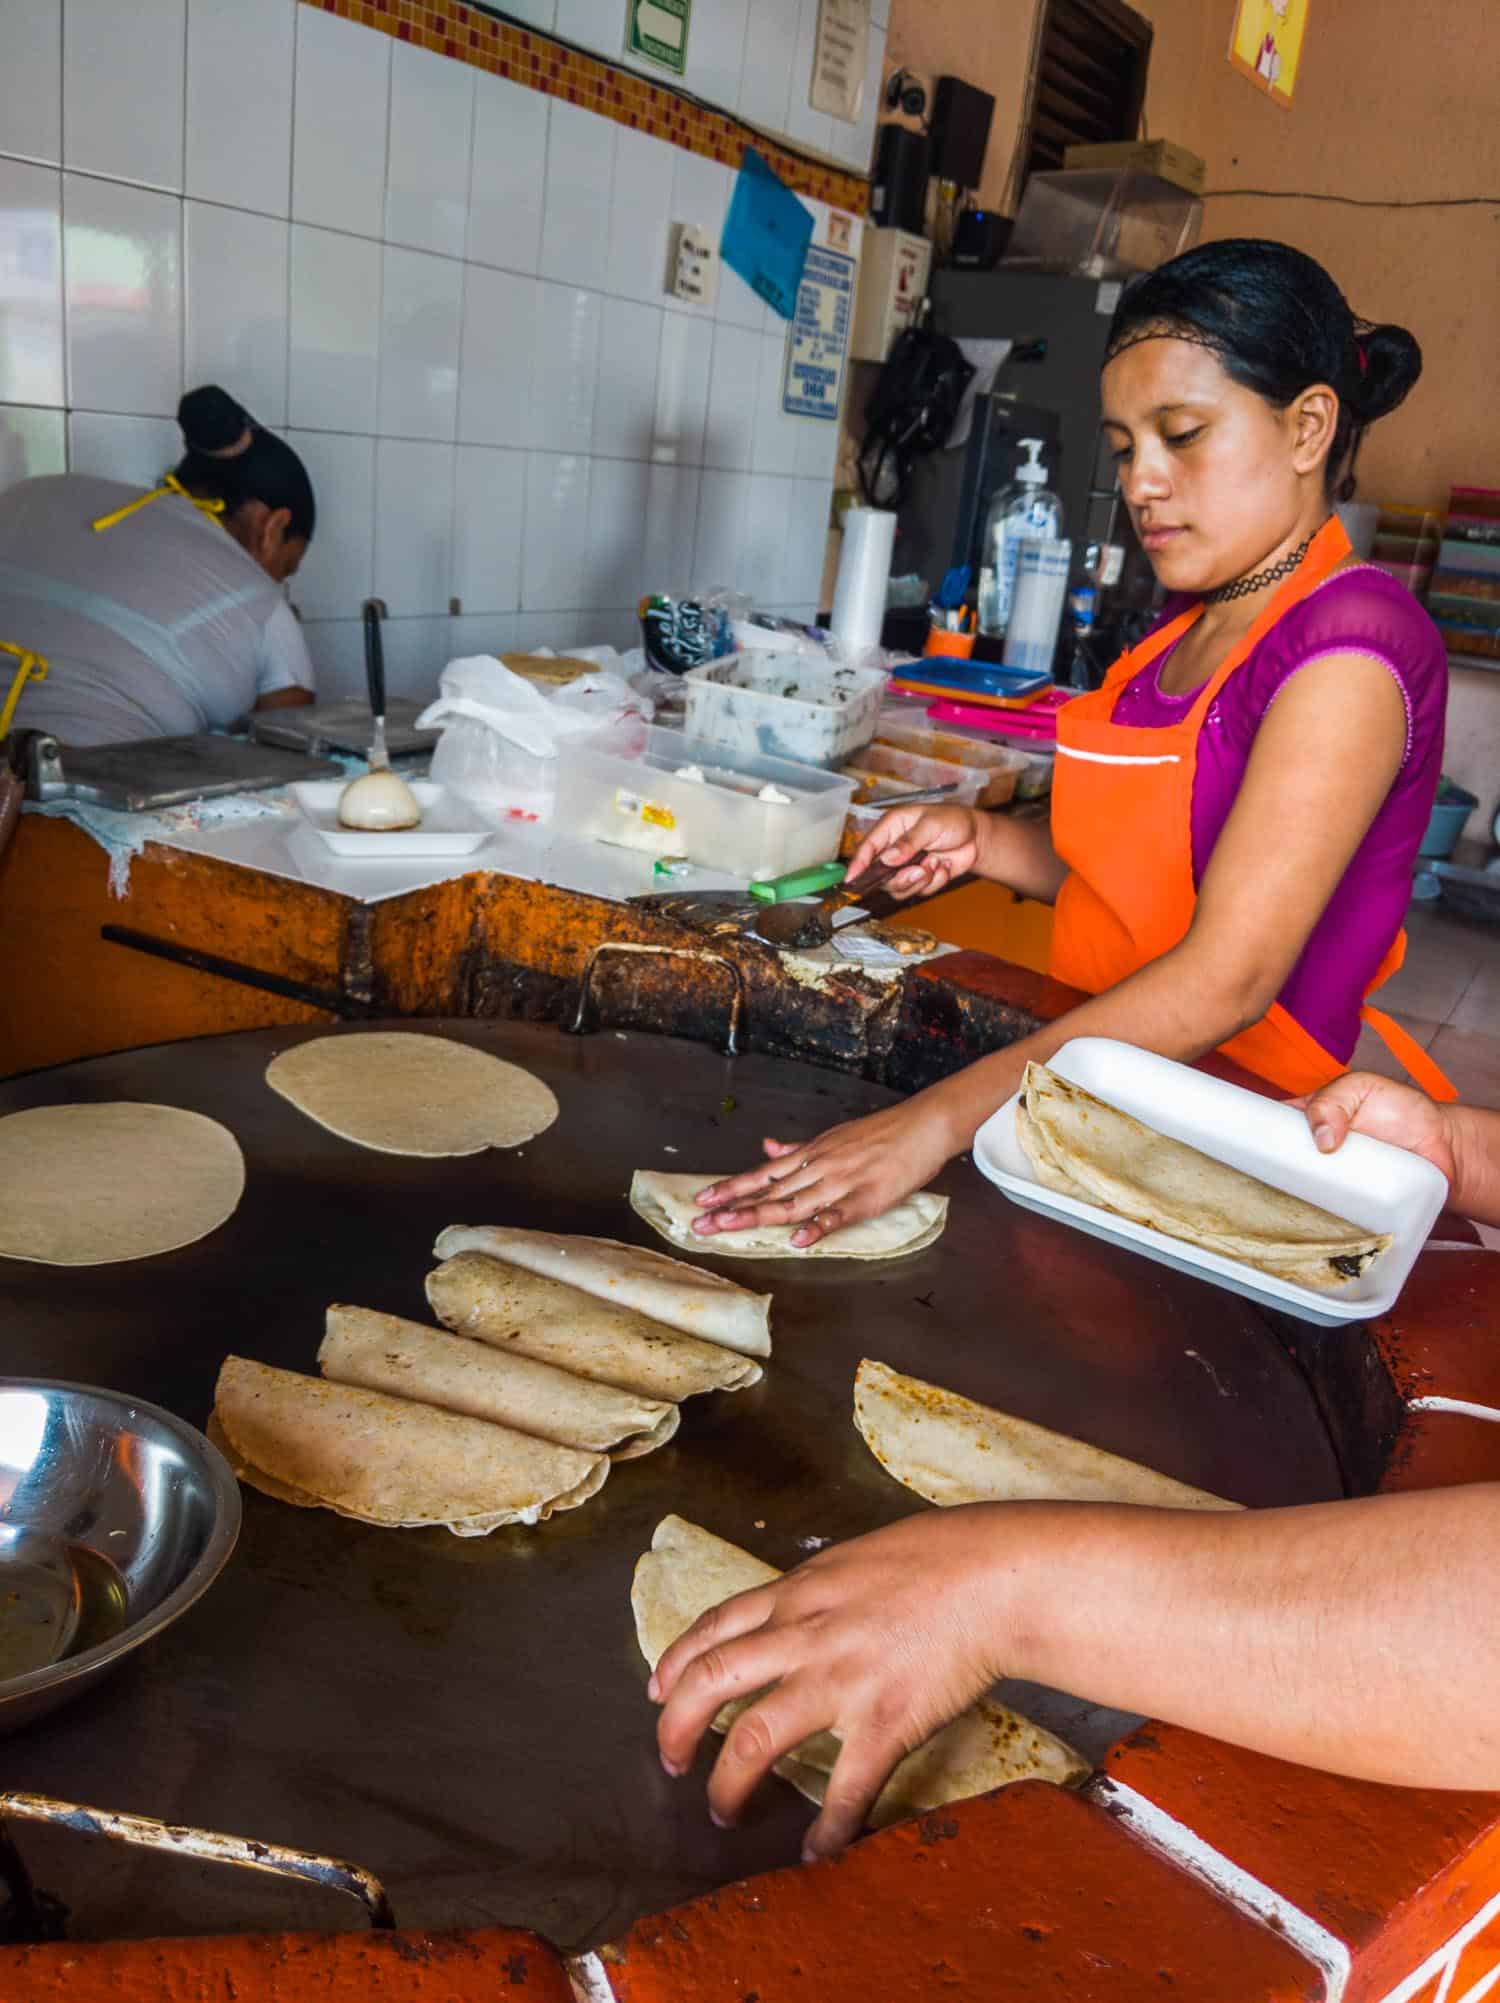
M763 1224L795 1224L805 1250L829 1232L893 1210L969 1146L941 1088L901 1106L829 1128L817 1140L765 1140L765 1168L699 1190L693 1220L701 1238Z

